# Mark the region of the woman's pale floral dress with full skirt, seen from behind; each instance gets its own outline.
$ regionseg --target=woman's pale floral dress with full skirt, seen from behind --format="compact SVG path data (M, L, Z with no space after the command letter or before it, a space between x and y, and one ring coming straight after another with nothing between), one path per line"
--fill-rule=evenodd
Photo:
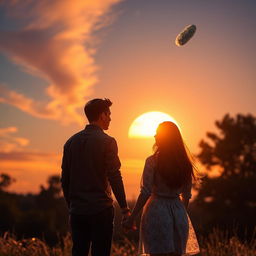
M155 166L155 157L147 158L141 179L141 193L149 199L141 217L139 255L198 254L194 228L180 200L180 195L191 198L192 184L171 190L161 177L154 175ZM157 179L157 186L154 179Z

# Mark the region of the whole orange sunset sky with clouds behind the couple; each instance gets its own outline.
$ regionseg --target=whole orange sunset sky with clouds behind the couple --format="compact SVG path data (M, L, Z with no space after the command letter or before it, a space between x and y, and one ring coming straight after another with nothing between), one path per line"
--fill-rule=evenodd
M60 174L63 144L109 98L128 199L153 138L129 138L150 111L179 124L193 154L226 113L256 113L254 0L0 1L0 173L19 193ZM194 37L177 47L189 24ZM203 166L200 168L203 169Z

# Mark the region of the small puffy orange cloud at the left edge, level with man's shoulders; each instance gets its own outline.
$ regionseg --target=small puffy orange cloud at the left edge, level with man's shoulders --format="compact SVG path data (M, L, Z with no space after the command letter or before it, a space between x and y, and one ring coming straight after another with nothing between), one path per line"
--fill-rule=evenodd
M29 144L29 140L22 137L13 136L18 131L17 127L0 128L0 158L2 153L21 151Z

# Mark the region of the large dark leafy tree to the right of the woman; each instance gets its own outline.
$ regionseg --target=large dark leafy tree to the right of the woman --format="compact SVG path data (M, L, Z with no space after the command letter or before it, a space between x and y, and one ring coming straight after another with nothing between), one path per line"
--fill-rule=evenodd
M197 214L200 210L200 222L206 229L235 226L238 233L245 229L251 233L256 225L256 118L251 114L234 118L226 114L215 124L219 134L208 132L208 141L199 144L198 158L208 175L193 209ZM214 178L209 175L213 168L221 173Z

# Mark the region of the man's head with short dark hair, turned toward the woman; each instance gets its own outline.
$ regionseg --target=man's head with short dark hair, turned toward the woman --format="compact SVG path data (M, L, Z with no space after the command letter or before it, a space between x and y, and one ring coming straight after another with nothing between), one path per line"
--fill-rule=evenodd
M112 102L109 99L93 99L88 101L84 106L84 113L90 124L96 124L103 130L109 127L110 106Z

